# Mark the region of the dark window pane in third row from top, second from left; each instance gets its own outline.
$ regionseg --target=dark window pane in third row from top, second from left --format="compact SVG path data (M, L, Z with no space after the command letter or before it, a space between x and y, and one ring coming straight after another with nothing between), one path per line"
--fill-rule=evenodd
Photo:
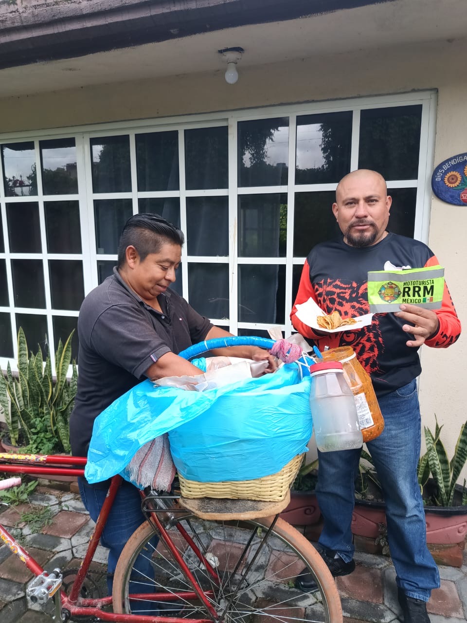
M84 298L80 260L49 260L50 296L56 310L78 310Z

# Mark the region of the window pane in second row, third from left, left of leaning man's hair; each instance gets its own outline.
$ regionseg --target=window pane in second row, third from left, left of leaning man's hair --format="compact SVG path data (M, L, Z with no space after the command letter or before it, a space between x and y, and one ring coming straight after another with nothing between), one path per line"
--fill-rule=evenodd
M98 253L116 254L118 240L131 214L133 214L131 199L97 199L94 202Z

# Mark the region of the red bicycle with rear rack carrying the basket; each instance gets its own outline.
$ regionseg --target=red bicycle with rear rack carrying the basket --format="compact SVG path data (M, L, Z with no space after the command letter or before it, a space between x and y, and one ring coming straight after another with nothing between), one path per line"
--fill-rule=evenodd
M235 339L238 343L244 338ZM263 342L266 347L273 343ZM198 345L190 356L200 349ZM0 472L14 474L79 476L85 464L83 457L0 454ZM0 486L18 480L9 478ZM0 523L1 540L35 576L27 597L37 604L53 598L55 621L342 623L341 601L328 567L311 543L279 517L290 494L281 502L254 502L141 492L146 521L121 553L113 594L90 597L90 564L121 480L111 479L85 557L67 586L59 569L45 571ZM139 556L150 561L150 576L139 573ZM295 587L304 568L316 581L314 592Z

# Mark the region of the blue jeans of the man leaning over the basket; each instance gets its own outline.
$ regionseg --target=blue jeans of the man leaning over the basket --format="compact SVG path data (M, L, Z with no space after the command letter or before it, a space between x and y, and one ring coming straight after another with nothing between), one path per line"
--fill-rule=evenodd
M85 478L78 478L78 487L88 513L93 521L97 521L102 505L107 495L108 483L97 485L89 485ZM133 532L144 523L145 518L141 511L141 495L136 487L129 482L123 480L113 502L112 508L108 516L108 520L104 527L100 543L109 549L107 561L107 591L112 594L113 574L115 573L116 563L121 551ZM155 538L154 546L157 545ZM144 556L138 556L135 561L134 568L143 578L154 578L154 570L150 561ZM132 578L137 579L132 573ZM135 582L130 586L131 592L144 592L141 586ZM133 608L136 610L136 608Z

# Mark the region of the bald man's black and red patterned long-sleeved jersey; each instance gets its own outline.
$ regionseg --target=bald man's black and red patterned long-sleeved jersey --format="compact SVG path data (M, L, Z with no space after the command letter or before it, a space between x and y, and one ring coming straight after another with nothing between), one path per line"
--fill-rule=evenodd
M412 381L422 368L418 348L406 345L413 336L402 331L404 321L394 313L377 313L370 326L358 331L331 333L318 336L313 329L296 317L296 305L311 297L329 314L337 310L341 316L361 316L369 313L367 273L384 270L385 262L394 267L422 268L439 264L433 252L418 240L389 233L370 247L350 247L342 237L316 245L309 253L301 273L300 286L291 312L295 329L320 350L324 346L352 346L357 358L370 374L375 392L383 396ZM446 348L461 333L447 286L443 304L435 310L440 326L427 346Z

